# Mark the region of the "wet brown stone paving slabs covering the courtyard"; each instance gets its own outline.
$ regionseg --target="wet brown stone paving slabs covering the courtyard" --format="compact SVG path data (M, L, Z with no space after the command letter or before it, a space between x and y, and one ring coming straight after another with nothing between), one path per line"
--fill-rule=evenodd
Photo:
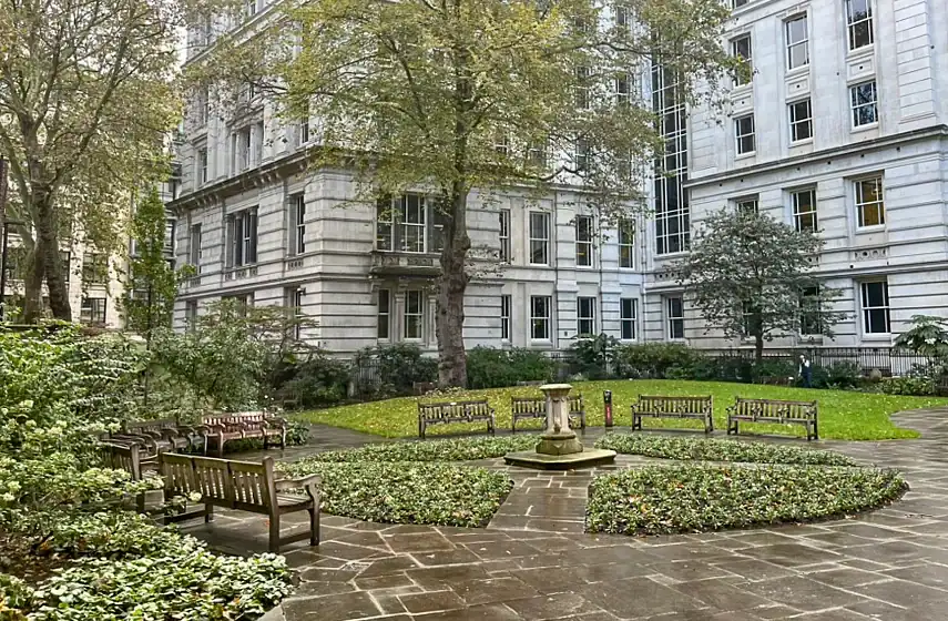
M266 619L946 621L948 409L895 419L921 439L816 445L897 468L911 486L901 501L856 519L592 536L583 533L583 516L594 471L508 469L514 489L486 529L324 516L318 548L285 552L300 583ZM601 434L590 429L584 439ZM317 450L377 440L332 428L314 435ZM642 461L620 456L618 466ZM507 468L502 460L479 464ZM221 551L266 550L259 516L225 512L186 530Z

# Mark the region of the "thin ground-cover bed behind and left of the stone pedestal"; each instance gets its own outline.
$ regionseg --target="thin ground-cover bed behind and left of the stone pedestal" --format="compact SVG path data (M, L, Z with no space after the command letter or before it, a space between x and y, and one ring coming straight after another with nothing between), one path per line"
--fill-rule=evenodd
M366 445L349 450L332 450L313 456L318 461L473 461L502 457L513 450L537 446L537 436L455 438L424 442Z

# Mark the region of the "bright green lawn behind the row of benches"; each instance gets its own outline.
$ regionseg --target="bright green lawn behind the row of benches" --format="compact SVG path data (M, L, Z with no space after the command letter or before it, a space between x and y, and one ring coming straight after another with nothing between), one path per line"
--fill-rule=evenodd
M948 405L948 399L937 397L903 397L894 395L875 395L848 390L815 390L807 388L784 388L777 386L760 386L748 384L730 384L722 381L676 381L676 380L609 380L579 381L573 384L573 393L581 393L585 398L588 425L602 426L602 391L612 390L612 403L615 425L628 427L631 424L629 406L639 395L711 395L714 397L715 428L725 428L725 408L734 403L734 397L757 397L767 399L794 399L819 401L819 436L823 439L844 440L881 440L891 438L916 438L918 434L910 429L896 427L889 415L931 406ZM426 400L459 400L462 398L487 397L497 410L497 424L501 429L510 427L510 397L541 395L537 388L495 388L490 390L469 390L463 396L451 396L450 399ZM309 411L296 415L295 418L307 423L323 423L335 427L344 427L357 431L366 431L389 438L412 438L418 434L418 410L415 397L401 397L385 401L374 401L351 406L336 407L325 410ZM539 421L537 421L539 426ZM693 421L645 421L645 426L658 427L695 427ZM664 424L664 425L663 425ZM527 424L524 423L524 428ZM781 431L803 436L802 426L787 426L786 429L775 429L776 426L742 425L745 431ZM518 425L519 428L519 425ZM429 427L428 435L457 434L465 430L485 430L483 424L475 425L439 425Z

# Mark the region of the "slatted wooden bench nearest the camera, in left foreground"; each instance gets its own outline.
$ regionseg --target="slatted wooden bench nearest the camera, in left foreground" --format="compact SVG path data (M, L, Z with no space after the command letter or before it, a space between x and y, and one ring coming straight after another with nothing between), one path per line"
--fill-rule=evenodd
M300 479L277 479L273 458L261 464L234 461L213 457L194 457L165 452L160 457L164 478L165 500L201 493L203 509L183 511L167 516L165 522L176 522L203 517L205 522L214 519L214 507L261 513L269 518L269 551L279 553L289 543L309 539L310 546L319 544L319 485L318 475ZM306 496L285 493L303 489ZM185 507L186 508L186 507ZM279 518L287 513L307 511L308 531L279 536Z

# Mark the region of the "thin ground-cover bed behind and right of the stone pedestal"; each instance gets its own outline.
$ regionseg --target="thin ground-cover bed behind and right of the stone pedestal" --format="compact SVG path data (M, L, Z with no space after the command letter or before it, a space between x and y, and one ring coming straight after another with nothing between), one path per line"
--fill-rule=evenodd
M632 434L609 434L598 448L625 455L643 455L679 460L797 464L801 466L856 466L855 459L828 450L812 450L765 442L741 442L704 438L669 438Z

